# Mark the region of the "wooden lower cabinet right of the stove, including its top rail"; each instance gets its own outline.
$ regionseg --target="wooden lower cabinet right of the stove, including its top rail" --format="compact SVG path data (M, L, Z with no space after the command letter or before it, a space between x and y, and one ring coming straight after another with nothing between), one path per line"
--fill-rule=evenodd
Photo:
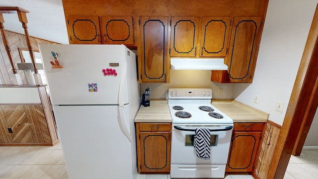
M234 123L226 172L252 172L265 123Z

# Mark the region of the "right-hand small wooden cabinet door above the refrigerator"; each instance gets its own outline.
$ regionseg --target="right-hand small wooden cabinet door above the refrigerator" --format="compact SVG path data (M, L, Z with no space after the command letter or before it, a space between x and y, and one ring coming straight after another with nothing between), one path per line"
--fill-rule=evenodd
M102 16L103 44L134 44L132 16Z

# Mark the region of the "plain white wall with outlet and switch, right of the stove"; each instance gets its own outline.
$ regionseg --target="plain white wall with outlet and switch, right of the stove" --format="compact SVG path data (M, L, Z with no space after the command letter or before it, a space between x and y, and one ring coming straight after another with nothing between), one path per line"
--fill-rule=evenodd
M253 83L236 84L234 98L269 113L280 125L294 86L317 0L269 0ZM254 103L259 95L259 103ZM275 110L277 101L283 112Z

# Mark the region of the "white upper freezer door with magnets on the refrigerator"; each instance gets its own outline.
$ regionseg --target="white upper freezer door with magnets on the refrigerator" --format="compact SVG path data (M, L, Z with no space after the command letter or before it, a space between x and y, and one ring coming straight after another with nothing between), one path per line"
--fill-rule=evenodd
M127 59L136 57L124 45L39 44L39 49L52 104L129 103ZM54 53L63 68L52 68Z

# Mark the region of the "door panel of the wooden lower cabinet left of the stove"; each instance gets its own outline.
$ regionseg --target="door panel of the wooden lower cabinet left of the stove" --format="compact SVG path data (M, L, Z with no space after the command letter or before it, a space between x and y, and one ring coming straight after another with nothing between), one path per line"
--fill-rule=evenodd
M141 132L141 171L170 171L170 133Z

